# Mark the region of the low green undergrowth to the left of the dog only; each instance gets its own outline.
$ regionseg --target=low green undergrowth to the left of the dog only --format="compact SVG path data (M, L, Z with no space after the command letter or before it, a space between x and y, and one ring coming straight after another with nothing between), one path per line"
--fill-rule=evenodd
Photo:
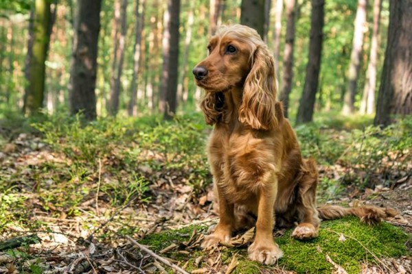
M3 224L37 228L27 222L28 197L52 217L70 218L82 214L81 204L96 193L113 208L132 200L150 202L156 195L150 185L165 177L201 192L211 182L207 130L200 114L172 121L106 117L91 123L63 113L30 119L0 114L0 152L5 151L0 164L3 159L10 164L0 169L0 233ZM27 164L14 166L17 158Z

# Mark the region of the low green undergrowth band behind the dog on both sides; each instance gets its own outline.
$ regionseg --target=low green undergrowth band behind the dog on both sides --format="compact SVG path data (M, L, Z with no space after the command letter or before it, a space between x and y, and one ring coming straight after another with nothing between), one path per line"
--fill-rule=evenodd
M407 176L412 117L385 129L370 123L319 119L295 127L304 157L326 167L319 197L336 197L347 184L392 186ZM64 112L30 118L1 112L0 232L4 224L33 225L27 222L31 199L53 217L70 218L82 214L79 206L97 193L113 208L153 201L157 193L150 187L159 180L190 185L195 195L204 195L211 184L205 152L210 130L200 113L172 121L142 116L85 123ZM336 165L339 179L327 170Z

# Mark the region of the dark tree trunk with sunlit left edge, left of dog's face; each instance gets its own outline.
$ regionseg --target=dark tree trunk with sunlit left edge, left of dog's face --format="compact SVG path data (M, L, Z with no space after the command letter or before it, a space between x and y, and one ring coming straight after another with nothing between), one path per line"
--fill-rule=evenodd
M164 119L176 112L177 77L179 67L180 0L168 0L163 32L163 73L161 79L160 111ZM172 20L170 20L172 18Z

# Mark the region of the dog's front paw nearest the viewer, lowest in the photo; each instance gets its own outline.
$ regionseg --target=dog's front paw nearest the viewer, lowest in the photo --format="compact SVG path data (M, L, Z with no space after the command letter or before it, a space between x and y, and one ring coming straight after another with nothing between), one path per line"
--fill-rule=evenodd
M249 259L258 261L262 264L274 264L279 258L282 258L283 252L279 247L272 242L268 244L253 242L253 244L247 249L249 253Z

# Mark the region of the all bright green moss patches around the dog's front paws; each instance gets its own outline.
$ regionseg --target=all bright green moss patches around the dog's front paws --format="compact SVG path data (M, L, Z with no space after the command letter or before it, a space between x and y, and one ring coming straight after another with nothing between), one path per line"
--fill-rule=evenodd
M166 231L160 234L152 234L141 240L154 251L168 247L172 243L181 245L188 240L192 231L204 231L205 227L192 226L176 231ZM381 258L399 258L410 255L406 243L410 236L401 229L388 223L369 226L358 219L347 217L334 221L321 223L319 237L313 240L299 241L290 238L292 230L276 238L275 241L284 251L284 257L278 262L278 267L297 273L331 273L333 266L326 260L330 258L347 271L347 273L359 273L361 264L379 264ZM173 251L163 254L168 258L179 262L189 262L188 271L207 267L207 252L195 249L187 253ZM222 251L222 264L228 265L233 256L237 256L239 265L234 273L262 273L265 270L270 273L273 266L262 266L257 262L247 259L247 247L229 248ZM200 265L194 265L196 258L203 256Z

